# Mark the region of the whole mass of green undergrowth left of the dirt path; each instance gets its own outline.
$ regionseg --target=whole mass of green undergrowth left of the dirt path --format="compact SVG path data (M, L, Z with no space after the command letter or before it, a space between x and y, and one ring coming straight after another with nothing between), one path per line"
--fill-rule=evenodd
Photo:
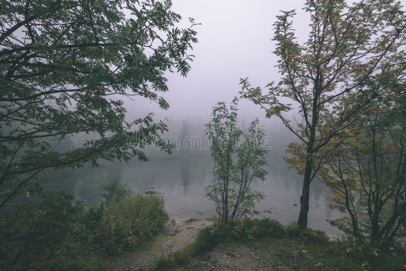
M100 205L65 193L0 214L1 270L105 270L106 259L139 249L168 220L160 195L134 194L112 180Z

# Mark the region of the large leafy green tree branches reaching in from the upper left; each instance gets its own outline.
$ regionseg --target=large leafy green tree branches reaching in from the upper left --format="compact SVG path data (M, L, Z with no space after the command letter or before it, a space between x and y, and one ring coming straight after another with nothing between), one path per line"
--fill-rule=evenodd
M179 29L165 1L0 2L0 208L45 168L97 166L98 159L147 160L142 148L170 152L153 115L126 119L124 101L169 107L167 71L190 70L195 23ZM65 136L93 139L65 152ZM51 143L50 143L51 142ZM37 185L35 185L38 187Z

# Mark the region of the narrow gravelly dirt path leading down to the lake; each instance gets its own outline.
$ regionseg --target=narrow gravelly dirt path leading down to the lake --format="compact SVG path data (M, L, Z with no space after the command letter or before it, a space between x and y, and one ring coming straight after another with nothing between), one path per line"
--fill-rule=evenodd
M142 251L113 259L109 265L115 270L122 271L148 270L157 259L192 243L200 229L213 224L212 221L196 219L175 220L175 224L173 222L174 220L166 223L164 234L158 236L152 244L142 248Z

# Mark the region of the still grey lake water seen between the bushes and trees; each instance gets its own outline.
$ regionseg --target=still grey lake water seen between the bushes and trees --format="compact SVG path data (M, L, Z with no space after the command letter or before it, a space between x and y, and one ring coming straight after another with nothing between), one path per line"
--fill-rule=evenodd
M267 217L289 224L296 221L299 213L302 177L293 170L287 171L282 158L272 152L268 163L266 182L253 185L254 189L265 194L257 209L272 209ZM198 155L175 153L149 162L134 160L130 163L103 163L98 168L84 167L77 171L48 171L41 181L46 189L69 191L87 204L94 205L98 201L101 184L112 177L119 177L133 191L151 187L162 191L166 209L173 218L206 219L212 217L214 209L213 203L204 196L205 186L212 178L211 170L212 161L208 152ZM315 180L311 185L309 227L336 235L340 231L326 220L339 218L342 214L329 208L331 201L330 190Z

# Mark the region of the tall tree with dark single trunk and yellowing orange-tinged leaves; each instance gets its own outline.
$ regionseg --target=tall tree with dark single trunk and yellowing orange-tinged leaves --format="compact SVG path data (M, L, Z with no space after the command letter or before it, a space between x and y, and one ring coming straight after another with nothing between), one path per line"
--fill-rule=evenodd
M262 94L260 87L241 80L242 96L265 109L267 117L279 117L299 140L289 145L292 157L286 160L303 175L301 228L307 227L310 184L323 163L316 159L320 148L344 132L351 116L380 91L405 75L406 21L401 8L394 0L351 6L344 0L308 0L307 42L300 45L295 38L291 21L295 11L283 12L274 24L281 81L268 84L268 93ZM370 91L371 80L377 77L386 84ZM362 93L362 98L339 107L354 93Z

